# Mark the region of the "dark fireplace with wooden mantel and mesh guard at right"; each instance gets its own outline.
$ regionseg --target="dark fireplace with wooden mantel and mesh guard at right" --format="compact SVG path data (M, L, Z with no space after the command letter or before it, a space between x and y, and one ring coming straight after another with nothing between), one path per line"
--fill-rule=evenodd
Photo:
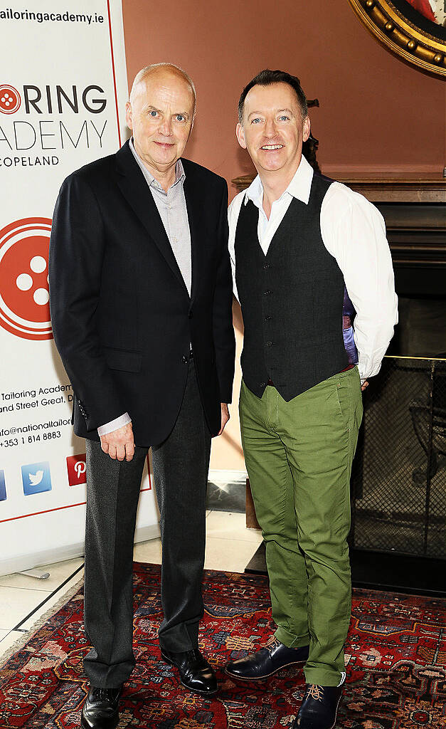
M446 559L446 180L348 181L386 220L399 324L364 393L353 550Z

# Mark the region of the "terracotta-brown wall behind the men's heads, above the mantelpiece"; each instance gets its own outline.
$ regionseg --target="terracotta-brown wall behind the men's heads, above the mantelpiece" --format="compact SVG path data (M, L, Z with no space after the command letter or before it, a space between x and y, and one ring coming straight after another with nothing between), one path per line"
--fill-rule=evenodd
M445 81L381 46L348 0L123 0L123 10L129 83L148 63L183 66L198 95L187 155L228 182L252 170L235 141L235 107L267 66L296 74L319 99L310 116L326 173L446 164Z

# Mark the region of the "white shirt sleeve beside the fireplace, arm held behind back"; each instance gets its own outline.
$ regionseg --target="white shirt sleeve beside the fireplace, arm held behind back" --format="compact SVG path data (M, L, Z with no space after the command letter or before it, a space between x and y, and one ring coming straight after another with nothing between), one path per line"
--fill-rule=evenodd
M372 203L334 182L321 208L321 235L343 272L356 309L354 340L361 380L377 375L398 323L394 270L383 216Z

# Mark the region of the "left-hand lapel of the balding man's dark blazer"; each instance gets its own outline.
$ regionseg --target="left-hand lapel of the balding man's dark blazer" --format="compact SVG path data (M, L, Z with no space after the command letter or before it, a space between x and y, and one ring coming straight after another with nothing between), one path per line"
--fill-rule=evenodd
M181 271L176 262L176 257L173 254L172 246L165 232L158 208L155 205L152 192L148 190L146 179L133 157L128 142L117 152L116 160L118 171L117 184L120 187L122 195L124 195L137 217L143 223L150 238L152 238L152 241L160 249L165 261L170 266L176 278L183 284L187 294L187 286L184 284L183 276L181 276Z

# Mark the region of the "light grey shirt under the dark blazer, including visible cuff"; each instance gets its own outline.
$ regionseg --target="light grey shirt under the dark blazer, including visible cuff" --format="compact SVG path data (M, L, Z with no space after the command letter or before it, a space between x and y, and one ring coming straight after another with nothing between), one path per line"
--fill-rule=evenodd
M149 185L149 190L152 192L152 198L160 213L169 243L171 243L173 255L176 258L181 276L184 278L184 284L186 284L190 296L192 286L192 254L189 219L187 217L186 198L184 196L184 179L186 179L186 174L183 164L181 160L178 160L176 163L175 182L165 192L160 183L157 182L154 176L144 166L141 158L138 157L138 153L133 145L133 139L130 139L129 146L136 163L138 163L144 174L146 182ZM115 418L109 423L98 427L98 434L106 435L118 428L122 428L130 422L131 418L129 414L124 413L119 418Z

